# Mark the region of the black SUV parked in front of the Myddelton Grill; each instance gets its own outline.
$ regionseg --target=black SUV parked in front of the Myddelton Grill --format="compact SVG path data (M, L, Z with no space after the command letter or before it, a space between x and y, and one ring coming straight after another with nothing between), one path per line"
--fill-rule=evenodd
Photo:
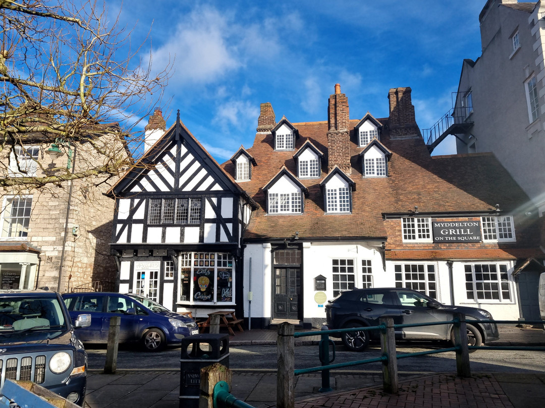
M452 320L454 313L465 314L469 320L492 320L488 311L462 306L447 306L420 292L403 288L353 289L341 292L325 305L328 327L378 326L383 316L393 318L396 325L428 323ZM498 328L494 322L467 324L470 345L480 346L498 340ZM378 339L376 331L343 333L342 340L348 349L362 351L370 338ZM452 325L405 327L396 329L398 340L452 340Z

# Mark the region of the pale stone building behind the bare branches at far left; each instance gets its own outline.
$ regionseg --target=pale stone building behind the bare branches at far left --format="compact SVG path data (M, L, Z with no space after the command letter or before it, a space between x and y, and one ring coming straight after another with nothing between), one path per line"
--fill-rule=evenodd
M101 139L109 143L112 136ZM49 168L71 172L100 160L88 143L51 145L39 137L28 143L13 147L17 159L13 151L8 152L10 157L0 158L8 176L42 177L48 169L38 162L51 161ZM76 179L41 189L2 192L1 289L47 286L65 292L93 285L99 290L116 289L117 270L109 248L114 203L103 194L110 185L96 187L96 181Z

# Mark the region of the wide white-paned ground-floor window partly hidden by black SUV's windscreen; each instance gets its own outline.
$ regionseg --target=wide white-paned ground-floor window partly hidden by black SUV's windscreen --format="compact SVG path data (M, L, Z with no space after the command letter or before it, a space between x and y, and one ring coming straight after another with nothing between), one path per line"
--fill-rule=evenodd
M393 266L396 287L406 287L437 299L437 277L433 263L401 263Z

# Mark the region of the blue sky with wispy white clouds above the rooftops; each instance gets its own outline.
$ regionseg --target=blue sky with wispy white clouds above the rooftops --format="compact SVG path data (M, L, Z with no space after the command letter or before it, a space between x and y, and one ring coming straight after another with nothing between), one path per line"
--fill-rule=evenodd
M451 107L462 61L480 56L486 0L131 0L122 25L146 40L153 66L173 62L161 105L222 163L256 134L259 104L277 120L325 121L341 84L350 118L388 116L390 88L412 88L416 121L429 128ZM108 1L116 14L120 1ZM151 27L151 28L150 28ZM147 119L142 123L145 125ZM456 153L453 137L435 154Z

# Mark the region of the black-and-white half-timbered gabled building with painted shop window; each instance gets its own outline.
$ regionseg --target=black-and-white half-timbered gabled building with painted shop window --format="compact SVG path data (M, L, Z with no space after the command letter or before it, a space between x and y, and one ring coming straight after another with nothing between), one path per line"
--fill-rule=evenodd
M109 193L119 291L195 317L242 305L241 236L255 204L179 117L165 131L155 110L145 145Z

